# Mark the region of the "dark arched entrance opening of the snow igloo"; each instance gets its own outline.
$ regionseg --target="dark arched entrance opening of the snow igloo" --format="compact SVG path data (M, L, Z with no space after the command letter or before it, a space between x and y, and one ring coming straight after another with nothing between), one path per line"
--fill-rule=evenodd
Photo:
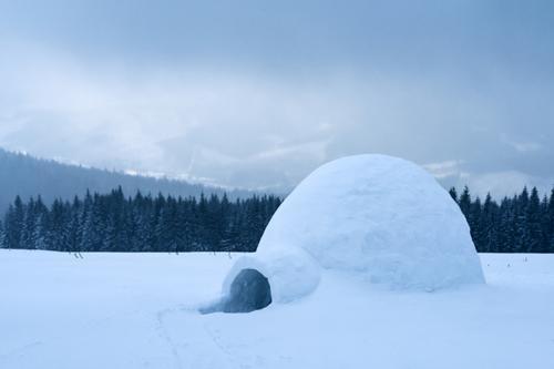
M256 269L243 269L230 284L229 295L218 304L202 309L211 312L250 312L271 304L269 280Z

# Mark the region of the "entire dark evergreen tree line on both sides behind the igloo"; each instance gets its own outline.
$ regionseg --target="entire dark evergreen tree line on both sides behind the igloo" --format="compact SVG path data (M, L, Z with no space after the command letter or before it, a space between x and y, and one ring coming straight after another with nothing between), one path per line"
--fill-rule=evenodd
M468 187L450 195L459 204L481 253L554 253L554 188L535 187L499 202L472 197ZM125 197L121 187L73 202L16 197L0 222L0 247L59 252L255 252L281 198L229 201L196 197Z

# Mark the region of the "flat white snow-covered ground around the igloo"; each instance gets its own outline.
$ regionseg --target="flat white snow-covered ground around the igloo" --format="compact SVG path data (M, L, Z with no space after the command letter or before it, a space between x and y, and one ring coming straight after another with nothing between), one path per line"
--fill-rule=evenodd
M202 316L227 255L0 250L0 368L554 368L554 255L481 259L488 286L325 273L295 304Z

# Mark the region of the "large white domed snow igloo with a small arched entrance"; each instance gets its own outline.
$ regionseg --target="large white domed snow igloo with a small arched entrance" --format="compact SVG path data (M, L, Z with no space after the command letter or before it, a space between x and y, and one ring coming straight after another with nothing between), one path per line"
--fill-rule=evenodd
M423 168L386 155L343 157L311 173L275 213L258 250L234 265L223 294L247 299L236 296L249 293L236 288L237 278L248 285L242 273L257 270L270 300L287 303L314 291L322 269L397 290L484 281L470 228L450 195Z

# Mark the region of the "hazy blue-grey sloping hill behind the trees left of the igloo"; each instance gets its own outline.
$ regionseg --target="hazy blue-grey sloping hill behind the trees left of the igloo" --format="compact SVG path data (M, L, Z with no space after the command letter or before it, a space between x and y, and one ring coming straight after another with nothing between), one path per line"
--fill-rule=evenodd
M74 195L82 195L88 188L91 192L107 193L117 186L121 186L127 196L134 195L137 189L143 194L162 193L184 197L199 196L202 193L220 195L224 192L227 192L230 198L254 194L248 191L225 191L184 181L158 180L61 164L0 148L0 214L3 214L17 195L25 199L40 194L45 203L50 203L58 197L70 199Z

